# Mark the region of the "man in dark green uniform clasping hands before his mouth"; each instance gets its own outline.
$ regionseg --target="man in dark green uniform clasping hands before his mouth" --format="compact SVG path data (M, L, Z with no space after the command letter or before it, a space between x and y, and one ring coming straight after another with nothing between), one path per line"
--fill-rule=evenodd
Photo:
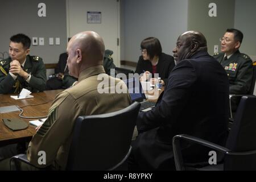
M46 88L46 68L38 56L30 56L31 40L24 34L10 38L9 55L0 61L0 94L31 92Z

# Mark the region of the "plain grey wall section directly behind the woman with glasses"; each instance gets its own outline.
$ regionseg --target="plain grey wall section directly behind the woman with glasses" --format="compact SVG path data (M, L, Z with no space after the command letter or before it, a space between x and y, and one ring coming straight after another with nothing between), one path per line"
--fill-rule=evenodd
M188 1L125 0L123 3L125 23L121 57L137 62L141 41L149 36L158 38L163 52L172 55L177 37L187 31Z

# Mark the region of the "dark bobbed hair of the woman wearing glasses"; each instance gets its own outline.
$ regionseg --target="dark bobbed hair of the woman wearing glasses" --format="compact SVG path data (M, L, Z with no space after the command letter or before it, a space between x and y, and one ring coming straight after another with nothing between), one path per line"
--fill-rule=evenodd
M150 59L152 59L155 55L159 56L160 53L162 53L160 41L152 37L142 40L141 49L147 50L147 54L149 55Z

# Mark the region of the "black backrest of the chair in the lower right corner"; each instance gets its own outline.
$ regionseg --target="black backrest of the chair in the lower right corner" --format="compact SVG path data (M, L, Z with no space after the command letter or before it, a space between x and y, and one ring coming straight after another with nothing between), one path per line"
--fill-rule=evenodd
M233 152L256 150L256 96L243 96L226 141ZM256 155L226 155L225 170L256 170Z

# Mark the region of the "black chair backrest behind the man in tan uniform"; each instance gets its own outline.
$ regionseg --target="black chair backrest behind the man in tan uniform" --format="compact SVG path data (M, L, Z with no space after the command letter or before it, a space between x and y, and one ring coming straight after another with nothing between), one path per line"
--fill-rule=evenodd
M108 114L76 119L68 157L68 170L108 170L125 158L130 149L141 104Z

